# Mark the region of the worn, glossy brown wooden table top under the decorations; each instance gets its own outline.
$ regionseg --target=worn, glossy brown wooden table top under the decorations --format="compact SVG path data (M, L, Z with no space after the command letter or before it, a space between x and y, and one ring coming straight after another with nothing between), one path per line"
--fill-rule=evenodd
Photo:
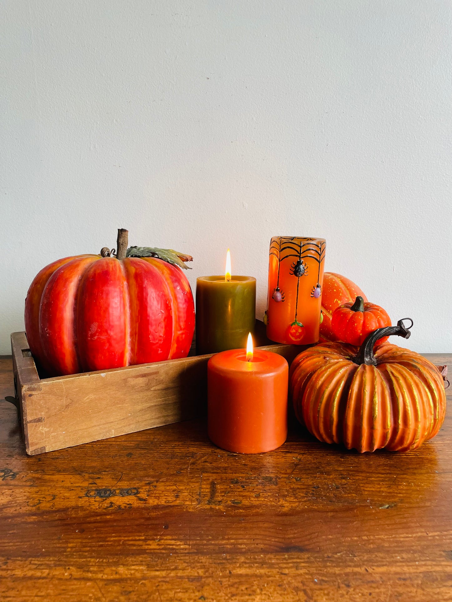
M411 453L294 426L242 456L190 421L28 457L0 403L0 469L2 602L452 600L450 410Z

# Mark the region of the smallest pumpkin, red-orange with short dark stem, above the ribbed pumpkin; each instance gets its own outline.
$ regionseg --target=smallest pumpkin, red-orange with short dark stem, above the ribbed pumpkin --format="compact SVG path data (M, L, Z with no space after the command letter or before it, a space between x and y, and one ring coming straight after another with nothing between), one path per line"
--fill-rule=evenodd
M351 345L362 345L365 338L377 328L391 326L391 318L386 310L356 297L354 303L348 302L334 309L331 318L331 330L339 341ZM388 337L377 341L377 345L387 341Z

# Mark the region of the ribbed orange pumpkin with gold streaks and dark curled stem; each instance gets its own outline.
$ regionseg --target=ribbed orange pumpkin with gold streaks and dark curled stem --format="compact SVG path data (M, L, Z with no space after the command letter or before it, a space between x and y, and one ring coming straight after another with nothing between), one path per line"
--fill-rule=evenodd
M410 326L411 327L411 326ZM295 414L320 441L348 449L405 452L438 433L445 416L444 382L427 359L391 343L408 338L403 320L378 328L360 348L327 342L295 358L289 383Z

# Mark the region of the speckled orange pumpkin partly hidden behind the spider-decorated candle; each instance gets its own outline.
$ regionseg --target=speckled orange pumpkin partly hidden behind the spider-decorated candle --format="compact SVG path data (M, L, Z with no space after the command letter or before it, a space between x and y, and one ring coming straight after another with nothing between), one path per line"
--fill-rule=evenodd
M323 286L322 286L322 322L320 324L320 337L319 342L324 341L337 341L336 335L334 335L331 329L331 316L333 315L334 309L339 305L344 305L351 301L352 303L356 297L361 296L365 301L367 297L363 291L345 276L335 274L334 272L325 272L323 275Z

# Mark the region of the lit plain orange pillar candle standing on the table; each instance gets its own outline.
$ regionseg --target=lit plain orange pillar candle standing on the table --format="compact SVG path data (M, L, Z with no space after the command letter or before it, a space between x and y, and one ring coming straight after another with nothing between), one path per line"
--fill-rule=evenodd
M286 359L262 349L212 356L207 364L210 440L238 453L280 447L287 437L288 374Z

